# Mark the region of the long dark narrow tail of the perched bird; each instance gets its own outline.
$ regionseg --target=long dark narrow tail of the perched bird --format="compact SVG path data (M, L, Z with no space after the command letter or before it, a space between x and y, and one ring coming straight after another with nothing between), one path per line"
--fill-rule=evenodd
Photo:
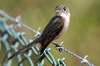
M25 51L27 51L28 49L30 49L32 46L36 46L39 43L40 43L39 39L34 40L33 42L31 42L28 45L24 46L23 48L21 48L20 50L18 50L16 53L14 53L12 56L10 56L8 58L8 60L14 58L15 56L19 55L20 53L24 53Z

